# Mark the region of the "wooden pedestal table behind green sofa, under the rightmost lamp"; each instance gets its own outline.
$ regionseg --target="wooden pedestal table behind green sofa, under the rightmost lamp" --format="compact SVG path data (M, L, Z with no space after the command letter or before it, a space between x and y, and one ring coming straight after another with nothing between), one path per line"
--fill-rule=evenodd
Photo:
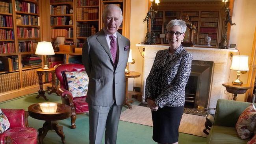
M247 84L243 85L233 85L232 83L223 83L224 87L226 87L226 90L229 93L234 94L233 100L237 99L237 94L244 94L248 89L252 88L251 86Z

